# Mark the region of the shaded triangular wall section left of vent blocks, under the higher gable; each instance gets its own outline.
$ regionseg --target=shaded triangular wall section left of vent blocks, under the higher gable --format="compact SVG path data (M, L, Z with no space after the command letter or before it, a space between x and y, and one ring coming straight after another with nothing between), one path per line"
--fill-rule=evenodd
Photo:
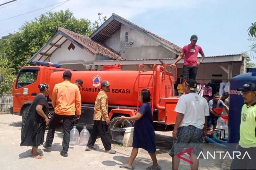
M120 53L120 30L121 28L118 28L118 30L116 30L116 32L111 35L110 38L103 42L118 53Z

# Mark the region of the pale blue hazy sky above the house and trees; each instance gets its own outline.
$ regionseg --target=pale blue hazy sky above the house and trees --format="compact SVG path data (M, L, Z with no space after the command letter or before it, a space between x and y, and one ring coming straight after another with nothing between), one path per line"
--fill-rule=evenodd
M0 4L7 1L10 0L0 0ZM0 37L19 31L26 21L60 4L1 20L63 1L17 0L0 6ZM98 20L99 12L107 18L116 13L181 48L196 34L205 56L216 56L250 50L252 41L248 41L247 29L256 22L255 6L255 0L69 0L52 11L69 9L76 18L88 18L92 22ZM256 58L252 62L256 63Z

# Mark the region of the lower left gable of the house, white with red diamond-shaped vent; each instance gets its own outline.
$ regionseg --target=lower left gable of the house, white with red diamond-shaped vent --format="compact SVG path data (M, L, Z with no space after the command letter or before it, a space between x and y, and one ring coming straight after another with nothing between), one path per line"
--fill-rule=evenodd
M91 38L58 28L57 33L33 55L28 63L44 61L59 63L63 68L85 70L98 60L124 60L115 50ZM95 67L97 69L97 66Z

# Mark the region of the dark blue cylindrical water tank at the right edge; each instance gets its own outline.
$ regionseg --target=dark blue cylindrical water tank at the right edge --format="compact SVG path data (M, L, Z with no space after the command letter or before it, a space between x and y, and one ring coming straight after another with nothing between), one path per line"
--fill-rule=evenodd
M239 129L241 121L241 110L244 105L242 92L236 91L247 82L256 84L256 69L250 69L250 72L237 75L230 80L230 104L228 115L228 143L238 143L240 139Z

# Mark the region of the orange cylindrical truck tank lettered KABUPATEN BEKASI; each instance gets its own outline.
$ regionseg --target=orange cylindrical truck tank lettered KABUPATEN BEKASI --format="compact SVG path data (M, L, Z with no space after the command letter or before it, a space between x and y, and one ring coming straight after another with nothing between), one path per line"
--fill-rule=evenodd
M140 86L152 86L153 71L145 71L140 75ZM166 72L163 76L161 72L159 86L156 87L156 73L154 73L154 86L155 89L159 88L159 98L172 97L173 90L173 75L171 72ZM50 92L49 98L52 99L52 90L55 84L63 81L63 72L56 71L50 76ZM97 94L100 92L101 81L108 80L111 84L108 93L108 105L115 106L137 106L138 101L138 71L72 71L71 83L74 83L77 78L84 81L83 86L80 88L82 103L94 104ZM165 80L162 78L165 77ZM156 91L154 91L155 93ZM154 98L154 100L156 97Z

